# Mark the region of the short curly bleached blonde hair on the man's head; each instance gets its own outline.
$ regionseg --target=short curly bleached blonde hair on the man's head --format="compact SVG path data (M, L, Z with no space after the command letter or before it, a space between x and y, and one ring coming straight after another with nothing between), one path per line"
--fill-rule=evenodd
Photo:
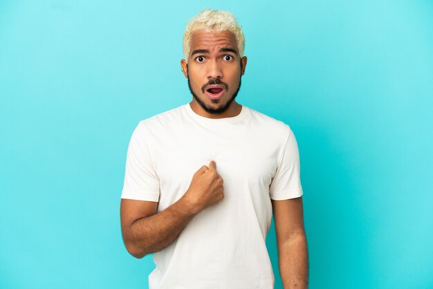
M242 28L237 24L231 12L205 9L188 21L185 33L183 33L183 57L188 62L191 48L191 36L196 30L207 30L214 32L230 31L237 40L239 56L243 57L245 48L245 37Z

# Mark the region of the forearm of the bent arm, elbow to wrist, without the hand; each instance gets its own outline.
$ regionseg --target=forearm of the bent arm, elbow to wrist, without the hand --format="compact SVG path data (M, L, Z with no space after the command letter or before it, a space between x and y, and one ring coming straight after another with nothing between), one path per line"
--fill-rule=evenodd
M131 223L126 230L125 245L137 258L158 252L170 245L196 214L187 200L181 198L162 212Z

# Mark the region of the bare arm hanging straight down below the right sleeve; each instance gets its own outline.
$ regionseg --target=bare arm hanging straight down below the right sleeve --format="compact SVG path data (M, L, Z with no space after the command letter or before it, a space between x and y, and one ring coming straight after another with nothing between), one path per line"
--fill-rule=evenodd
M284 289L308 288L308 250L302 196L271 201L277 233L279 272Z

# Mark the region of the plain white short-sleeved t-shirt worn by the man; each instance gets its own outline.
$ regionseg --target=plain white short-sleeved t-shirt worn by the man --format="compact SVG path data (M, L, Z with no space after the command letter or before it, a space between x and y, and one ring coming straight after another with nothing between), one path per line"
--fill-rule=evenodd
M302 196L297 142L284 122L247 106L231 118L205 118L189 103L142 120L129 142L121 197L158 201L161 212L210 160L224 198L154 253L149 288L274 288L266 249L270 199Z

